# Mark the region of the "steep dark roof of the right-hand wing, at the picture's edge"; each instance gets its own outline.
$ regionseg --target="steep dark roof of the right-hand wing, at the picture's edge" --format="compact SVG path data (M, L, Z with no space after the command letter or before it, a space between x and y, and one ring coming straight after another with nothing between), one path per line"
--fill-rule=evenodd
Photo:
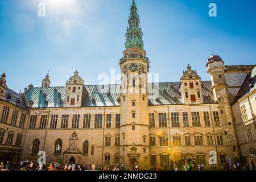
M240 100L240 98L254 89L256 89L256 67L253 69L253 71L251 71L251 73L247 74L245 81L243 81L243 84L237 93L233 104L235 104L238 100Z

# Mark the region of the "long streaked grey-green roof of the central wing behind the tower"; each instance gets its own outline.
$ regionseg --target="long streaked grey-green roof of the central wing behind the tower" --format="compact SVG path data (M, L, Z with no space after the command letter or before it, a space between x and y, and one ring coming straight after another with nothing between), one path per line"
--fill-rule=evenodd
M179 87L181 82L159 82L148 84L148 105L177 105L183 104ZM154 86L153 86L154 85ZM216 103L210 91L211 81L202 81L204 104ZM82 107L120 106L118 98L121 97L120 85L85 85L88 97L82 101ZM210 96L209 99L207 96ZM32 88L26 93L28 105L30 101L36 107L63 107L65 99L65 86L48 88ZM47 102L46 102L47 101Z

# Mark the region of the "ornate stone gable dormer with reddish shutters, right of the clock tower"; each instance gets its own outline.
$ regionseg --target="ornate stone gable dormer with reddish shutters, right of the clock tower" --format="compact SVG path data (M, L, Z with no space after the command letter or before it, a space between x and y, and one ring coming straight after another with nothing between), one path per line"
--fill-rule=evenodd
M179 91L184 104L203 104L201 78L197 75L196 71L191 69L190 65L183 72L180 81Z

